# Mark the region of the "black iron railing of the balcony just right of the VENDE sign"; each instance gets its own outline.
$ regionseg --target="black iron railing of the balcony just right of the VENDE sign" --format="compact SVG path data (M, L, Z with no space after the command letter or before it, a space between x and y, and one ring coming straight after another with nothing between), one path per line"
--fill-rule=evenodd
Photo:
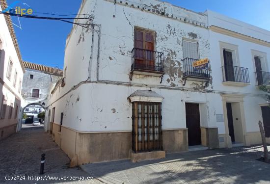
M233 65L224 65L222 68L223 82L244 82L249 83L248 68Z

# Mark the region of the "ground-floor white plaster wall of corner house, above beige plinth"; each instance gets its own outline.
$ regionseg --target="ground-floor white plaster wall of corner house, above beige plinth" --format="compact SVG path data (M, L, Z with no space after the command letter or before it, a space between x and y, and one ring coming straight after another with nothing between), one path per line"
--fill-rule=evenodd
M132 131L132 104L127 97L138 89L149 90L150 88L96 83L81 85L77 92L72 92L72 95L55 103L54 122L59 124L60 113L63 109L63 126L78 131ZM194 92L186 95L185 92L178 90L152 90L164 97L162 102L162 128L164 130L186 128L186 102L205 103L209 106L206 113L202 114L208 120L207 126L216 126L216 114L222 113L219 94ZM218 99L218 101L215 102L213 99ZM224 127L220 126L221 133L222 130Z

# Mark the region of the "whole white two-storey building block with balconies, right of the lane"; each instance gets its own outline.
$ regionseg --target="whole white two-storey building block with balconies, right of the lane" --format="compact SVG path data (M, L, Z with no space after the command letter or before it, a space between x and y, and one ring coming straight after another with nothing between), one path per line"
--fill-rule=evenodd
M261 142L253 63L269 76L270 31L158 0L83 0L78 14L91 25L68 35L45 120L74 164Z

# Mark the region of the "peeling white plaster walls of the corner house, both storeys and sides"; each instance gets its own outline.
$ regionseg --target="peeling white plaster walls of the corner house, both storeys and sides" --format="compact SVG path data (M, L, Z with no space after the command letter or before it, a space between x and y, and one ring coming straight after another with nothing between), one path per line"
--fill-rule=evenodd
M140 1L136 2L140 3ZM208 29L192 25L192 22L188 23L188 20L193 20L194 24L196 21L198 25L207 26L207 17L156 0L145 1L143 6L140 5L140 9L128 5L123 6L124 3L114 4L106 0L87 0L79 11L80 14L93 13L95 15L94 23L102 26L99 79L131 82L131 84L181 87L182 39L198 41L201 58L208 57L210 53ZM133 4L135 7L135 1ZM141 8L145 9L146 4L156 9L155 12L142 11ZM156 12L161 12L163 9L175 12L174 15L177 15L178 19L166 16L166 14L162 16ZM180 20L179 17L185 17L187 23L184 23L184 19ZM162 84L160 84L161 78L158 77L134 75L132 81L129 79L132 62L131 51L134 48L134 26L156 31L156 51L164 53L165 75ZM92 43L90 28L74 26L68 36L64 63L64 68L67 67L66 85L63 88L56 88L48 104L54 103L72 86L87 79ZM93 43L90 76L91 80L96 80L98 45L96 33ZM201 88L201 85L201 82L187 82L186 84L190 88L197 86ZM50 106L50 108L55 106L54 122L60 122L60 114L63 112L63 125L78 131L131 131L132 105L127 97L138 89L149 90L150 88L95 83L81 85ZM164 97L162 103L163 129L186 128L186 101L209 103L208 99L211 99L206 93L191 93L186 98L185 93L178 90L152 90ZM219 95L216 96L219 98ZM220 109L218 106L220 105L217 104L216 108ZM175 113L175 110L180 113ZM209 111L209 113L212 113L208 117L209 124L215 126L214 111Z

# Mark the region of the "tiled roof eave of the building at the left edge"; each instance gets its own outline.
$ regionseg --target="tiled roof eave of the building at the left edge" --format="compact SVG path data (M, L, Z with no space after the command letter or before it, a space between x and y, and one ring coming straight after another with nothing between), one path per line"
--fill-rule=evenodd
M6 0L0 0L0 5L1 5L1 9L5 9L5 8L7 7L7 2L6 2ZM18 58L19 58L21 67L22 67L22 69L23 69L23 72L25 73L25 67L24 67L24 64L23 64L22 55L21 55L21 52L20 52L20 48L19 48L19 44L18 44L18 41L17 41L17 38L16 38L15 31L14 31L14 27L13 27L13 25L12 25L11 17L10 17L10 15L6 15L6 14L5 14L5 15L4 15L4 18L5 18L5 22L6 22L6 25L7 25L7 27L8 27L10 36L11 36L11 38L12 38L13 45L14 45L14 47L15 47L16 53L17 53L17 55L18 55Z

